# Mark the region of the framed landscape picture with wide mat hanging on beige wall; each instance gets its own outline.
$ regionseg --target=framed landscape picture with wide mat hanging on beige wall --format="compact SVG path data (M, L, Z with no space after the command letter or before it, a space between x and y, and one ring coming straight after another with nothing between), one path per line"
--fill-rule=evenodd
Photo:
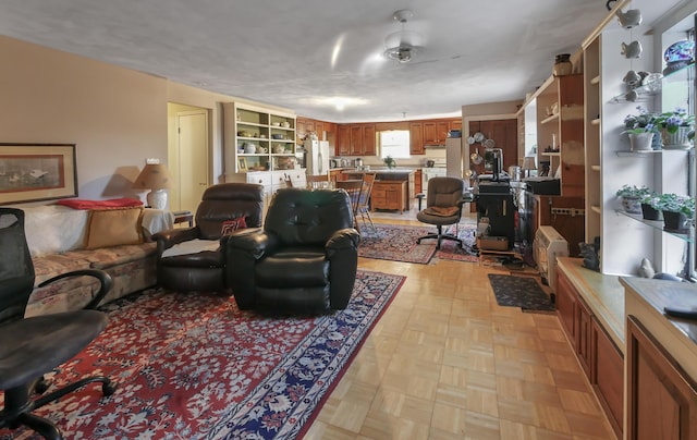
M75 144L0 143L0 205L76 196Z

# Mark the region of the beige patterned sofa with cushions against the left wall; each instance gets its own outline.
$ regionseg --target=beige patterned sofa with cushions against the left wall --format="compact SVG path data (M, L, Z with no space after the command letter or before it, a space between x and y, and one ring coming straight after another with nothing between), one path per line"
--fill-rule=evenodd
M42 281L77 269L102 269L113 279L103 302L157 284L156 243L151 234L173 227L169 211L119 208L99 211L59 205L22 208L36 282L26 315L80 307L95 286L94 279Z

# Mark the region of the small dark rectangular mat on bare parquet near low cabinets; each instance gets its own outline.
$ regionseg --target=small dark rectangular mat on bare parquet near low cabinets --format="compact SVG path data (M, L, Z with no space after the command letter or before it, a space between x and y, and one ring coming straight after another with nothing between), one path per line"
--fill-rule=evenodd
M554 310L554 304L533 278L489 273L489 282L500 306Z

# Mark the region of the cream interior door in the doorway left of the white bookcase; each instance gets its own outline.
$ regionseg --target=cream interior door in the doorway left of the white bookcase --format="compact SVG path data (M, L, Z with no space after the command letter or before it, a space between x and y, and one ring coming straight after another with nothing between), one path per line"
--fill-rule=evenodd
M210 184L208 112L204 109L178 112L175 121L175 149L169 158L175 179L170 209L196 212L204 191Z

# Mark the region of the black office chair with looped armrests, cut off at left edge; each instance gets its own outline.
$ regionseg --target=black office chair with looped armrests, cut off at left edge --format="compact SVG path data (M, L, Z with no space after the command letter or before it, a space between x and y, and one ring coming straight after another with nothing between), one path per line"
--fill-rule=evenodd
M34 400L30 394L46 391L44 375L82 352L107 327L107 316L89 308L97 307L109 292L111 277L85 269L44 281L39 286L87 276L98 280L99 290L86 309L24 318L35 274L21 209L0 208L0 389L4 391L0 428L25 425L46 439L62 439L51 420L32 412L90 382L101 382L105 395L113 394L115 384L107 377L93 376Z

